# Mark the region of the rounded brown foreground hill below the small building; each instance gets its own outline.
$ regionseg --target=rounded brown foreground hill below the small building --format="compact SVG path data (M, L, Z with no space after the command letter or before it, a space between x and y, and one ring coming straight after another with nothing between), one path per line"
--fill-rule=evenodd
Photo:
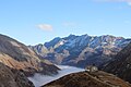
M69 74L41 87L131 87L131 85L115 75L98 71Z

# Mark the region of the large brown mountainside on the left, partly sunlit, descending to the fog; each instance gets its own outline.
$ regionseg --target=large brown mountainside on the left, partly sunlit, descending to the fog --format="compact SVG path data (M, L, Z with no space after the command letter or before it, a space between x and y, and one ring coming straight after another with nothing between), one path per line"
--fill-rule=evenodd
M34 73L57 74L58 67L46 59L41 59L27 46L0 35L0 62L4 65L20 70L25 75Z

